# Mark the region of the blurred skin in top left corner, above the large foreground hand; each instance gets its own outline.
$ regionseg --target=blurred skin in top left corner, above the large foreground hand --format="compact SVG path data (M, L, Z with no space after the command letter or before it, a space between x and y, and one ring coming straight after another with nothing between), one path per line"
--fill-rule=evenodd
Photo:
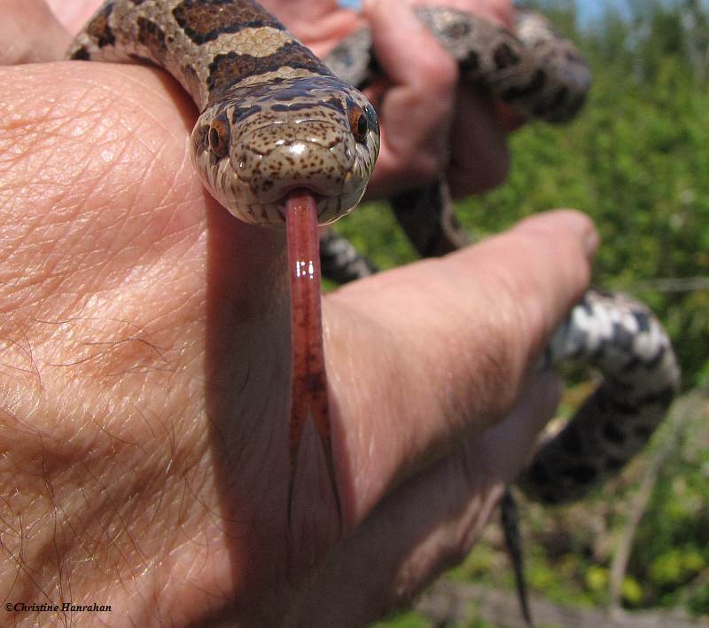
M61 59L71 37L44 0L7 0L0 20L0 65Z

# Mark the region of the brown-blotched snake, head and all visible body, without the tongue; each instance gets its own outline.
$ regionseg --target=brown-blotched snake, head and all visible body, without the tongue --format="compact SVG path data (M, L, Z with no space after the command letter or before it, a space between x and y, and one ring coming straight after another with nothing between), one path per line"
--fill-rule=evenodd
M513 35L452 9L416 12L457 59L464 80L520 114L565 122L582 106L588 68L536 13L518 11ZM366 29L340 44L325 65L251 0L109 0L76 36L69 56L167 69L199 107L191 134L195 168L209 192L247 223L282 227L289 194L304 188L320 224L362 198L379 143L374 109L350 84L366 85L376 69ZM467 241L445 186L403 195L393 205L422 255L442 255ZM321 253L323 269L340 281L376 271L332 233ZM604 382L559 434L541 444L518 482L528 495L555 504L579 498L617 473L651 436L679 386L658 320L622 294L588 292L554 334L540 366L570 358L596 366ZM293 368L295 380L308 366ZM306 418L293 417L291 496ZM326 424L327 416L316 428L337 501Z

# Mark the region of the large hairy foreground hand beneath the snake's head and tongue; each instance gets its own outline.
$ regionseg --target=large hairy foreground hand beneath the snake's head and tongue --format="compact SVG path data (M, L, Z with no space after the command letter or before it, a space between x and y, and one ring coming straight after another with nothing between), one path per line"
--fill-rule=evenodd
M523 464L593 227L536 217L325 299L325 553L338 522L286 530L284 233L202 189L194 115L151 68L0 68L0 591L113 606L77 623L360 625L460 559Z

